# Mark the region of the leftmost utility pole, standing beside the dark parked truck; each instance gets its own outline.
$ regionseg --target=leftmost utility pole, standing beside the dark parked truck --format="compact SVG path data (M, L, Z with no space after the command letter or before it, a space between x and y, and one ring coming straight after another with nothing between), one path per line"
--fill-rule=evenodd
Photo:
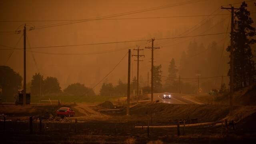
M23 40L24 40L24 51L23 51L23 66L24 66L24 73L23 73L23 105L26 105L26 24L23 29Z

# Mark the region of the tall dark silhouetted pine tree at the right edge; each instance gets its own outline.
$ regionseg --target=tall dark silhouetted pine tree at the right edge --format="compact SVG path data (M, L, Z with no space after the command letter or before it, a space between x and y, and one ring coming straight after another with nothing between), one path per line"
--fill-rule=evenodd
M255 62L252 60L252 49L250 45L256 42L255 28L252 27L250 12L246 9L245 2L240 6L240 10L235 12L234 30L234 89L246 87L252 84L256 77ZM227 48L230 51L230 46ZM230 72L228 73L230 75Z

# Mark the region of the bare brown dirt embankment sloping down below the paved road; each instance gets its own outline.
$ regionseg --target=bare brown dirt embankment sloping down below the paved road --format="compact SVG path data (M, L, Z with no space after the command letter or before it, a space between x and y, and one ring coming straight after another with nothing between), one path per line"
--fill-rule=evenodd
M238 121L256 112L255 106L235 106L232 120ZM122 117L123 120L176 123L177 119L195 119L197 122L213 122L226 118L229 114L227 105L179 105L179 104L140 104L130 110L131 118Z

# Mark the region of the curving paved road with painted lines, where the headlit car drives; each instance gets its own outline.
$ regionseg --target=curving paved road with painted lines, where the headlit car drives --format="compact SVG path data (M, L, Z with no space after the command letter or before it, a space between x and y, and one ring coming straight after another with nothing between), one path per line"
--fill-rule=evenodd
M188 94L177 94L172 93L171 99L163 99L162 93L154 93L154 101L159 100L162 103L172 103L172 104L197 104L203 105L204 103L197 101L196 99L191 99Z

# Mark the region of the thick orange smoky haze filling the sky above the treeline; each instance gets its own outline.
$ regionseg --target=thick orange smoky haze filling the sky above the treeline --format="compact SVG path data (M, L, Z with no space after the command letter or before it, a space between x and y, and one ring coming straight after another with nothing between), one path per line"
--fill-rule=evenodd
M188 0L1 0L0 1L0 20L81 20L88 18L97 18L108 16L111 14L120 14L134 10L143 10L185 2ZM227 10L221 10L220 7L228 4L242 2L241 0L204 0L194 4L186 4L182 6L164 8L160 10L141 12L126 16L118 16L115 18L146 18L146 17L164 17L164 16L192 16L192 15L208 15L212 14L230 14ZM239 7L240 4L235 4ZM251 13L256 10L250 9L252 2L248 2L248 9ZM255 14L251 15L254 22ZM180 57L183 51L186 51L190 41L197 41L198 44L203 43L204 47L212 41L216 41L219 47L223 47L223 39L225 34L218 36L190 37L180 39L157 40L165 37L179 36L183 32L190 30L193 26L200 23L206 16L198 17L180 17L180 18L154 18L154 19L125 19L125 20L94 20L89 22L81 22L77 24L69 24L64 26L56 26L50 28L35 29L27 31L28 41L27 47L44 47L58 45L79 45L86 43L102 43L115 41L132 41L139 39L156 38L154 43L156 49L154 53L154 65L162 64L163 76L168 75L168 65L172 58L175 59L179 68ZM230 16L210 16L212 24L202 25L194 32L187 36L224 33L230 25ZM6 31L15 31L17 28L22 30L24 23L29 26L44 26L49 24L64 23L59 22L0 22L0 45L9 47L23 48L23 37L21 34L9 34ZM220 24L218 24L220 23ZM214 26L209 29L209 26ZM19 28L20 26L20 28ZM200 25L199 25L200 26ZM230 28L230 27L229 27ZM207 32L205 32L208 30ZM230 32L230 29L228 29ZM229 44L229 34L227 35L226 46ZM27 81L31 81L32 75L42 73L44 78L48 76L57 77L62 90L71 83L82 83L87 87L93 87L106 74L108 74L114 66L124 57L128 49L151 46L150 42L130 42L130 43L114 43L102 45L82 45L72 47L48 47L32 49L35 61L31 52L27 53ZM226 47L225 46L225 47ZM124 49L126 48L126 49ZM6 47L0 46L0 49ZM90 55L59 55L60 53L92 53L108 50L124 49L110 53L90 54ZM30 49L28 49L30 50ZM220 50L221 51L221 50ZM44 53L38 53L44 52ZM147 73L150 72L151 65L148 61L151 59L151 51L144 49L140 51L144 54L140 62L140 81L141 85L146 85ZM200 51L198 51L200 52ZM14 50L10 59L7 61L12 50L0 51L0 65L8 65L14 71L17 71L23 77L23 51ZM58 55L56 55L58 53ZM54 55L53 55L54 54ZM136 51L132 50L132 54ZM204 53L202 53L203 55ZM224 55L228 55L225 51ZM127 55L116 69L104 80L114 85L118 79L124 83L127 81ZM134 60L135 57L132 58ZM219 59L216 59L219 60ZM200 65L200 62L195 61ZM228 70L227 61L223 62L223 67L219 75L226 75ZM136 61L132 63L132 76L136 76ZM197 69L195 67L195 69ZM194 75L194 74L193 74ZM216 75L202 75L202 77L210 77ZM184 76L188 77L188 75ZM162 79L164 83L164 79ZM95 88L98 93L101 85Z

